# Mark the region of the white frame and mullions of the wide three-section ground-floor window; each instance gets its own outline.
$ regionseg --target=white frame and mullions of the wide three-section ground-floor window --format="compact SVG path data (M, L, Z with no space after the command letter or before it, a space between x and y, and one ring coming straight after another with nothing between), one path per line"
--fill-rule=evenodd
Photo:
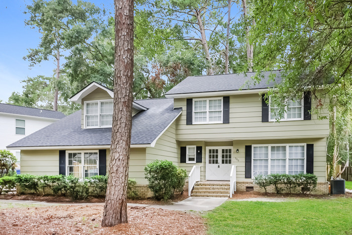
M252 161L251 161L251 178L254 179L253 176L253 165L254 165L254 147L265 146L268 147L268 175L271 174L271 153L272 153L272 146L286 146L286 174L289 174L289 146L292 145L304 145L304 169L303 173L306 174L307 168L307 144L306 143L287 143L287 144L252 144Z

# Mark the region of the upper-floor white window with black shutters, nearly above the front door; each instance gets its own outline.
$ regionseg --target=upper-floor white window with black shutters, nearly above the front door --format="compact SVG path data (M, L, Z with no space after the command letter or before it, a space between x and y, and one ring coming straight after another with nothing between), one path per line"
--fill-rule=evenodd
M222 123L222 97L193 100L193 124Z

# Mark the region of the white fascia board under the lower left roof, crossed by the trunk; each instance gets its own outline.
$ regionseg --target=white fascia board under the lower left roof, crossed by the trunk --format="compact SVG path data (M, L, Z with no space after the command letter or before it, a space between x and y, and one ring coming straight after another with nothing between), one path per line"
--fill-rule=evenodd
M131 144L131 148L150 147L150 144ZM6 147L9 150L68 150L68 149L98 149L110 148L110 145L74 145L74 146L32 146L32 147Z

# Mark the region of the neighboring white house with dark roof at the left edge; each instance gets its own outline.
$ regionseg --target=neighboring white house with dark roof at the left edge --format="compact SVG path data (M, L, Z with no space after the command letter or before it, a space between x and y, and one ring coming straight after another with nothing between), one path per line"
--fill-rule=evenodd
M0 149L64 118L61 112L0 104ZM10 150L20 161L20 150Z

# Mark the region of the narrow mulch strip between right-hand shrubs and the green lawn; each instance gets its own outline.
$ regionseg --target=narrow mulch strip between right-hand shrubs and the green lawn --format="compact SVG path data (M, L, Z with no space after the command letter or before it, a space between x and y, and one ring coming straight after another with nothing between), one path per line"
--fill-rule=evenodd
M352 193L345 194L334 194L334 195L314 195L314 194L289 194L289 193L259 193L259 192L235 192L232 195L232 199L245 199L245 198L256 198L256 197L275 197L275 198L317 198L317 199L329 199L329 198L337 198L337 197L347 197L352 198Z

